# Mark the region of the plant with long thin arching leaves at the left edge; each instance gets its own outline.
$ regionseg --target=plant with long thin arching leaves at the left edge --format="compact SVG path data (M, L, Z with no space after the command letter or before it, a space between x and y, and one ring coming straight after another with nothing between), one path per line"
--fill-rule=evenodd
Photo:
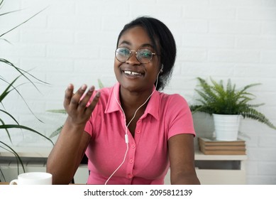
M0 9L3 6L3 3L4 3L4 0L0 1ZM11 14L13 12L16 12L16 11L9 11L6 13L2 13L2 14L0 14L0 17L7 15L7 14ZM37 14L31 16L31 18L35 17L40 12L41 11L39 11ZM7 41L4 38L4 36L7 33L13 31L15 28L18 28L19 26L23 25L23 23L26 23L27 21L31 20L31 18L28 18L26 21L23 21L22 23L18 24L17 26L9 29L9 31L0 33L0 41L9 43L9 41ZM5 149L6 151L10 151L14 156L16 156L16 161L17 161L18 166L20 163L23 168L23 171L25 172L25 168L23 166L23 162L22 162L20 156L10 146L12 144L11 133L10 133L11 129L24 129L27 131L31 131L31 132L37 134L38 136L43 136L43 138L47 139L52 144L53 144L53 141L51 139L49 139L47 136L44 136L40 132L36 131L35 129L32 129L31 127L26 127L24 125L19 124L19 122L16 120L16 117L14 117L11 113L9 113L8 110L5 109L3 102L5 101L5 99L7 99L6 97L8 97L11 92L16 92L19 95L19 97L21 97L23 102L25 102L26 106L28 107L28 104L25 101L25 99L23 98L23 96L21 95L21 92L18 91L18 87L22 87L23 85L25 85L25 83L17 84L19 78L25 79L27 81L26 83L33 85L33 87L35 87L36 90L38 90L38 87L37 87L38 83L43 84L43 85L48 85L48 83L43 82L42 80L39 80L35 76L31 75L30 72L16 67L16 65L13 65L13 63L11 63L9 60L6 60L5 58L0 58L0 71L6 70L7 68L13 69L14 72L16 72L18 74L18 76L16 78L14 78L12 81L9 81L9 80L6 80L6 78L3 75L0 75L0 83L1 83L1 87L0 87L0 104L1 104L1 106L0 106L0 130L3 130L3 131L0 131L0 133L3 133L3 132L6 133L7 136L9 137L9 141L10 141L9 144L5 143L4 141L0 141L0 148ZM3 74L3 72L0 72L0 74ZM28 107L28 109L31 111L30 107ZM33 114L32 111L31 111L31 113ZM6 122L6 120L4 120L4 117L1 117L1 115L6 118L9 118L9 120L13 121L12 124L10 122ZM40 121L40 119L38 119L38 120Z

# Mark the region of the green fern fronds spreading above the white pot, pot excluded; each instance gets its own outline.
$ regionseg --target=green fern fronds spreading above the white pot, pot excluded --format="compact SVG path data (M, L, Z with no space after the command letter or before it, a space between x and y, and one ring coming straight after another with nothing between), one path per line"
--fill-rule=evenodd
M250 104L255 99L255 95L248 92L248 89L260 85L259 83L245 85L245 87L237 90L236 85L232 85L230 79L228 79L226 86L223 85L222 80L216 82L210 78L211 84L201 77L197 77L197 80L199 80L199 89L195 89L195 91L199 94L199 98L196 99L198 104L190 106L193 113L241 114L243 118L254 119L276 129L275 125L263 113L255 109L264 103Z

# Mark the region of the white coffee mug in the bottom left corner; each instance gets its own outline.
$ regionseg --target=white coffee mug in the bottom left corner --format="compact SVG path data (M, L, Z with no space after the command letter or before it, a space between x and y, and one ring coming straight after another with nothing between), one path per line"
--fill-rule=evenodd
M21 173L10 185L51 185L52 174L45 172Z

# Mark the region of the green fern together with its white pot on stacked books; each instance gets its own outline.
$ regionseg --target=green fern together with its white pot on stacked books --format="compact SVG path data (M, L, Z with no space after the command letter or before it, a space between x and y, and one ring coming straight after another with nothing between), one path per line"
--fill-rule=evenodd
M217 140L236 140L241 117L254 119L276 129L263 113L255 109L264 103L250 104L255 96L248 92L248 89L260 85L259 83L245 85L238 90L235 84L232 85L230 79L226 85L223 85L222 80L216 82L212 78L210 78L211 83L201 77L197 77L197 80L199 80L199 89L195 89L195 91L199 98L196 99L196 104L190 105L190 109L192 113L205 112L213 115Z

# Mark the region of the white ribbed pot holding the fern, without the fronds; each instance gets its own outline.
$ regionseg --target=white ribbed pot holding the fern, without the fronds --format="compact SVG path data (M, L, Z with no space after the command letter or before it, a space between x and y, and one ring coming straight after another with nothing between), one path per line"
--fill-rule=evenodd
M239 114L213 114L216 139L221 141L236 141L240 127Z

